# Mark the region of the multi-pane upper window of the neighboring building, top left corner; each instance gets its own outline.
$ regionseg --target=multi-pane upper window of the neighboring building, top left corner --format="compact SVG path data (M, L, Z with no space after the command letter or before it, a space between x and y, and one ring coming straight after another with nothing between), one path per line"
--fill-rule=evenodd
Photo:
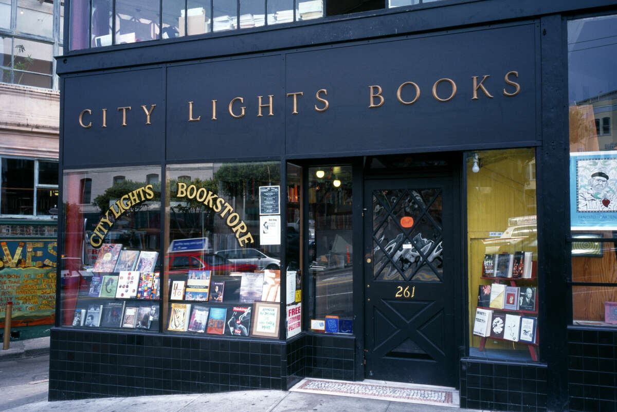
M0 81L57 89L63 25L62 0L0 0Z

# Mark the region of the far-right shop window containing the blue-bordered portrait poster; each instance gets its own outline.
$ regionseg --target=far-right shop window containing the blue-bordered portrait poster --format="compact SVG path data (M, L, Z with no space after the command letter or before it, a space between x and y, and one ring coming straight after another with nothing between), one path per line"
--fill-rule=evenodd
M568 22L572 323L617 314L617 15Z

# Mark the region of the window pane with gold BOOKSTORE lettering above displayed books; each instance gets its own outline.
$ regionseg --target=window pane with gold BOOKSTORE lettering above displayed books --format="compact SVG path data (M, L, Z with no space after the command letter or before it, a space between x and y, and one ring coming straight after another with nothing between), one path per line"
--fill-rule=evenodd
M279 313L281 216L260 215L260 193L280 202L280 176L279 162L167 167L165 331L248 337L255 301Z

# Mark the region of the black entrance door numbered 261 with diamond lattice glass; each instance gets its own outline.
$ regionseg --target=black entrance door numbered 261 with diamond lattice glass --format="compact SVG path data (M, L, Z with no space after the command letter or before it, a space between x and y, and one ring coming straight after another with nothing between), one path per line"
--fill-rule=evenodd
M365 181L365 376L455 386L451 178Z

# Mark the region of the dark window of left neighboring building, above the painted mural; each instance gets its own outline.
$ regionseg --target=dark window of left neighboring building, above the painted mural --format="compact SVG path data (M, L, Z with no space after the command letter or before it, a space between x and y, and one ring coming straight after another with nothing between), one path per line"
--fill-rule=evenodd
M58 162L2 157L0 215L57 215Z

